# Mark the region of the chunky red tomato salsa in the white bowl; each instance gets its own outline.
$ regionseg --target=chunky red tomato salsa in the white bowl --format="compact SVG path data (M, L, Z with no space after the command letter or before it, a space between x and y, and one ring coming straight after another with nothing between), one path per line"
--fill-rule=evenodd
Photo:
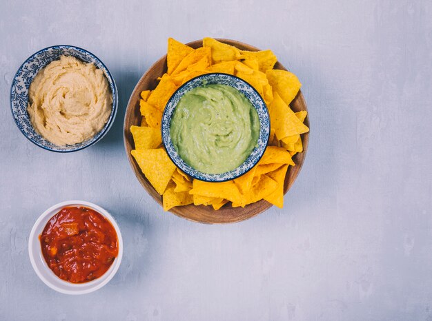
M50 269L72 283L99 278L119 253L114 227L88 207L64 207L48 221L39 239Z

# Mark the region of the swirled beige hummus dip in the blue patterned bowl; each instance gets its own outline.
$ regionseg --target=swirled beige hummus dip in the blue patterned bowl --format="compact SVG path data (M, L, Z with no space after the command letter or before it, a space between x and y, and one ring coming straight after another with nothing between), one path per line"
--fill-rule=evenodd
M30 84L28 114L35 130L55 145L74 145L95 136L111 113L112 94L94 63L61 56Z

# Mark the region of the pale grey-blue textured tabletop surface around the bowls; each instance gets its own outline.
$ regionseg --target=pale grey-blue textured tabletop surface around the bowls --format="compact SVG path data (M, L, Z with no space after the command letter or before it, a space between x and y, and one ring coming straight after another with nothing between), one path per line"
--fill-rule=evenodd
M306 163L284 209L206 226L164 213L126 160L122 122L166 39L271 48L304 84ZM431 320L431 1L1 1L0 319ZM97 145L55 154L19 132L10 82L30 54L78 45L119 88ZM36 218L68 199L119 222L124 261L65 296L28 259Z

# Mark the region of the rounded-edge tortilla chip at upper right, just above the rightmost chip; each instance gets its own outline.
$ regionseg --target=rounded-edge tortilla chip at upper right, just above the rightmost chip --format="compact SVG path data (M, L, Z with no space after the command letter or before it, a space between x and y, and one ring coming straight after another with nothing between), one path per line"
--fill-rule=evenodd
M289 105L302 86L297 76L286 70L275 69L267 70L266 75L268 83L273 87L273 95L277 92L286 105Z

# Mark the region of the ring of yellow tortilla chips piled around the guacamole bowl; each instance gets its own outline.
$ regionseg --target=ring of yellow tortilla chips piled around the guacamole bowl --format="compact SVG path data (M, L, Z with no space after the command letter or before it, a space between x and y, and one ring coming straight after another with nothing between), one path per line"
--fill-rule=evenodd
M231 202L233 207L244 207L262 199L283 206L286 171L295 166L291 157L303 151L300 135L309 129L303 123L307 112L295 113L289 107L301 83L291 72L273 70L276 62L271 50L248 52L211 38L203 40L202 48L193 49L168 39L168 70L155 90L141 92L141 126L130 127L135 141L132 156L163 196L165 211L188 204L219 209ZM162 112L170 96L186 81L211 72L233 74L253 85L266 101L271 118L270 139L262 159L248 173L224 183L190 178L161 146Z

